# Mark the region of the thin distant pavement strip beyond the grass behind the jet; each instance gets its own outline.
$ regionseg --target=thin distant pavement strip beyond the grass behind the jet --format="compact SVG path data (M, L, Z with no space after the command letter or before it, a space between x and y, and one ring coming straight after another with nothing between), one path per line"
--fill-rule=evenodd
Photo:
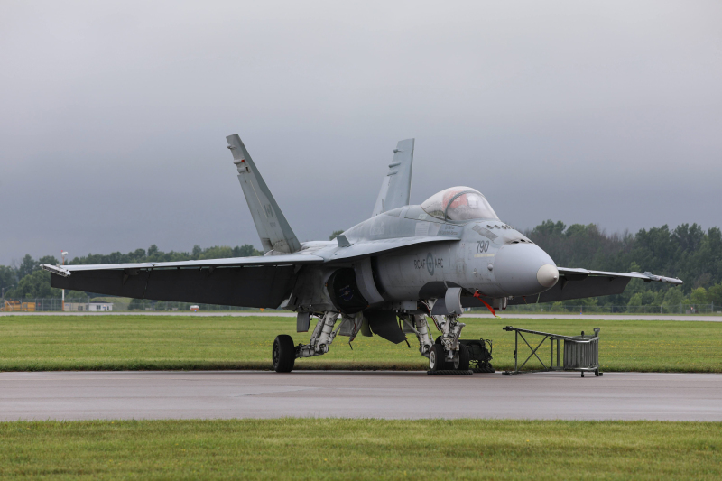
M543 314L543 313L497 313L499 319L587 319L587 320L697 320L705 322L722 322L720 315L674 315L674 314ZM270 316L291 318L296 317L295 312L273 311L273 312L250 312L209 310L206 312L162 312L162 311L131 311L131 312L0 312L0 317L5 316ZM467 312L465 318L489 318L493 316L486 312Z

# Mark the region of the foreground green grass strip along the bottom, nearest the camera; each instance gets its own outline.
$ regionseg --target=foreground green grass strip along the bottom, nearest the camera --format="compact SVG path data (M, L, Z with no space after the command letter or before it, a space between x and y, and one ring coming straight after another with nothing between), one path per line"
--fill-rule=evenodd
M3 479L719 479L722 423L0 422Z

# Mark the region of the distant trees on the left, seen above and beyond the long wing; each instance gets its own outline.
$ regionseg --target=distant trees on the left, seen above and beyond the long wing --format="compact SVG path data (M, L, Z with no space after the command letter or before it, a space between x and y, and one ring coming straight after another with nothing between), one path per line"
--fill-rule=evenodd
M131 263L162 263L175 261L190 261L203 259L222 259L226 257L249 257L262 255L250 244L236 247L216 245L207 249L194 245L189 252L162 252L156 245L148 250L136 249L128 254L114 252L112 254L88 254L84 257L75 257L68 264L131 264ZM51 288L51 274L43 271L40 264L60 264L56 257L46 255L33 259L32 255L25 254L23 260L14 265L0 265L0 289L5 291L8 299L50 299L60 298L60 289ZM66 291L68 300L88 298L86 292Z

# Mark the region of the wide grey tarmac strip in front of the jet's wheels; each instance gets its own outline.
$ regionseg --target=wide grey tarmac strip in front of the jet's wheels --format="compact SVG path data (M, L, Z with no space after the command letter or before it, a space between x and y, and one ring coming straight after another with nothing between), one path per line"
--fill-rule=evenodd
M0 373L0 419L518 418L722 421L722 375Z

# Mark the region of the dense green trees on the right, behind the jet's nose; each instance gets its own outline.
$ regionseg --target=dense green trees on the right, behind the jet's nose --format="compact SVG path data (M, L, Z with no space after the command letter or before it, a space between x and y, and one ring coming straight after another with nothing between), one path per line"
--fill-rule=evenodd
M697 224L641 229L636 234L608 235L595 224L547 220L524 232L557 265L598 271L651 272L684 281L680 287L632 281L624 293L567 304L614 306L709 304L722 306L722 231L705 232Z

